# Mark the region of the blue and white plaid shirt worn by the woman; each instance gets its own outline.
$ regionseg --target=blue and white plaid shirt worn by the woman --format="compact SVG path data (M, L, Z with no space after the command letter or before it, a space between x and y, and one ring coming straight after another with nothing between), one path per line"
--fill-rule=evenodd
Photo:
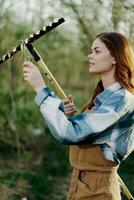
M134 95L115 82L94 99L94 112L70 118L64 103L46 87L35 102L52 135L63 144L98 144L106 159L120 164L134 149Z

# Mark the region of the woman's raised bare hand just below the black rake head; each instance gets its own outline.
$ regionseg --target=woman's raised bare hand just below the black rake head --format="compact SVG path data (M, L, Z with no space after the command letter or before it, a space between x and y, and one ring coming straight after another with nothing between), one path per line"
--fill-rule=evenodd
M36 92L39 92L44 87L47 87L39 69L31 62L23 63L23 76Z

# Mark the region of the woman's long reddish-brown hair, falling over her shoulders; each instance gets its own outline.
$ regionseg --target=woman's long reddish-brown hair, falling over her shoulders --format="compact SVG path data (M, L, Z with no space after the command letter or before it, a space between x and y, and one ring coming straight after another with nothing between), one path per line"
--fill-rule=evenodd
M103 32L96 35L108 48L116 60L115 79L120 85L134 94L134 51L127 38L118 32ZM99 80L93 91L91 101L81 109L91 109L94 106L95 97L104 90L102 81Z

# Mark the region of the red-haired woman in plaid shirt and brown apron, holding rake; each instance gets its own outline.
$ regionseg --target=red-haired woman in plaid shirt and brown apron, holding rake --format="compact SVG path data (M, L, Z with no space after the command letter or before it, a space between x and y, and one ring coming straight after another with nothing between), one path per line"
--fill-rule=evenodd
M80 114L69 96L59 99L35 65L24 79L53 136L70 145L73 167L68 200L120 200L117 169L134 147L134 53L121 33L104 32L92 43L89 72L100 75L91 102Z

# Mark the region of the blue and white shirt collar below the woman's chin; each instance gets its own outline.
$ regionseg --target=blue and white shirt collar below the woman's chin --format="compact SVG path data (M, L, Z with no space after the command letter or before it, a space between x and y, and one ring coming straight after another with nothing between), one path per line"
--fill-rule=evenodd
M98 100L99 102L103 102L104 99L106 99L111 93L115 92L116 90L119 90L122 86L119 82L115 82L109 87L105 88L101 93L99 93L95 99L94 104L97 104Z

